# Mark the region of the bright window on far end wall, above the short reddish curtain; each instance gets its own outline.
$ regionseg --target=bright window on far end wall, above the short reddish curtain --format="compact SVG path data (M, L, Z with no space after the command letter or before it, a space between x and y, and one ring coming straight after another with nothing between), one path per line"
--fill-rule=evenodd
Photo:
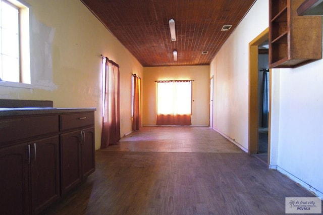
M192 99L191 81L158 81L157 114L190 115Z

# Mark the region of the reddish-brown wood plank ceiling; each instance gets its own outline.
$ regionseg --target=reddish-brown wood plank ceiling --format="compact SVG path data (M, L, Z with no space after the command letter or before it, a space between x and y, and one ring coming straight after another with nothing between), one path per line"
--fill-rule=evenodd
M143 67L156 67L209 65L255 0L81 2ZM170 19L175 20L176 41L171 41ZM221 31L224 25L232 28ZM178 51L177 61L173 50Z

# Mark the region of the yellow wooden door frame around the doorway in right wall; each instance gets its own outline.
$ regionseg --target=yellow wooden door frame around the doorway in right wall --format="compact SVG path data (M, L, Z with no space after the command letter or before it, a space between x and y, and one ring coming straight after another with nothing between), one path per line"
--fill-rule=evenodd
M248 122L248 154L258 152L258 46L268 39L266 28L249 43L249 122ZM269 72L269 114L268 114L268 164L270 164L270 132L271 132L271 89L272 72Z

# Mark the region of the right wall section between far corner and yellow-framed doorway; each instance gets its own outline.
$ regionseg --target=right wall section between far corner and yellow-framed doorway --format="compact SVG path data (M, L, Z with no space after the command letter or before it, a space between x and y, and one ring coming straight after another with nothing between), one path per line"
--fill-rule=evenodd
M255 19L257 20L255 22ZM211 62L213 128L248 149L249 42L268 27L268 1L257 1Z

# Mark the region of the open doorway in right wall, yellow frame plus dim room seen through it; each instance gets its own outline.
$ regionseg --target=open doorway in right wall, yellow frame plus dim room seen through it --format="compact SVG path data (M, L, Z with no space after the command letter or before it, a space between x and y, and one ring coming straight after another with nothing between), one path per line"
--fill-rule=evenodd
M266 164L270 163L270 70L268 28L249 43L249 147Z

